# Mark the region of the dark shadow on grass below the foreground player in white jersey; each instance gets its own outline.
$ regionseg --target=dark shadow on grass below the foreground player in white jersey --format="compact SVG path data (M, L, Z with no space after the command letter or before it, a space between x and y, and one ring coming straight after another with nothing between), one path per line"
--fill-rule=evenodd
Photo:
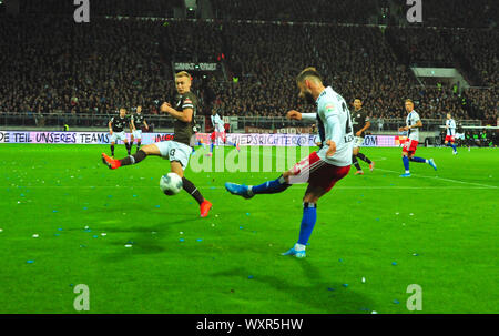
M291 257L289 257L291 258ZM344 287L342 283L334 278L323 278L317 267L313 266L307 259L295 259L296 266L303 269L306 277L306 285L298 285L293 282L287 275L279 277L276 275L256 275L252 281L262 282L276 291L283 292L289 299L294 302L315 308L318 312L326 314L360 314L373 310L373 302L358 294L355 289ZM213 276L237 276L247 278L249 272L245 268L235 268L226 272L215 273ZM299 276L299 275L297 275ZM302 314L303 312L258 312L265 313L283 313L283 314Z

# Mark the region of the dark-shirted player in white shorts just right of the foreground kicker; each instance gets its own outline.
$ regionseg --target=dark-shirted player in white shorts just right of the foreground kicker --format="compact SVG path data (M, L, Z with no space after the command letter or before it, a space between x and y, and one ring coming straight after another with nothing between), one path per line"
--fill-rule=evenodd
M360 146L364 142L364 132L370 128L370 120L367 112L363 110L363 102L359 99L354 100L354 112L352 113L352 122L354 123L354 152L352 156L352 164L355 165L357 171L355 174L364 175L364 171L357 161L357 157L369 164L370 171L374 170L375 163L370 161L366 155L360 153Z

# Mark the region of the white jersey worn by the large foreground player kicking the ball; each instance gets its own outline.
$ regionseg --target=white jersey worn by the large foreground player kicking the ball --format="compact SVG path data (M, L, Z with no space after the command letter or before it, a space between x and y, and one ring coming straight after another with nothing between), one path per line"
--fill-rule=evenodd
M354 131L352 128L350 111L345 99L330 86L327 86L317 98L316 102L319 134L322 136L323 134L326 135L326 139L322 139L324 146L317 152L317 155L327 163L336 166L350 165L354 147ZM327 118L332 114L338 116L339 134L333 134L333 125L327 122ZM330 135L333 135L333 139L336 139L336 153L333 156L327 156L326 152L329 146L325 141L329 140L327 136Z

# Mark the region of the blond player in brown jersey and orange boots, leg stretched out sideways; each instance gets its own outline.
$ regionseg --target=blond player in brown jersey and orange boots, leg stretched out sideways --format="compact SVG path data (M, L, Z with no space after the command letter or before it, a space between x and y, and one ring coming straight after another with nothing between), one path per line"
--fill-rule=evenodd
M182 177L183 189L196 200L200 204L201 216L206 217L212 203L204 200L197 187L184 177L184 170L187 167L189 157L192 153L191 140L194 139L194 116L197 111L197 98L191 90L191 75L181 71L175 75L175 85L179 93L176 99L176 111L169 103L163 103L160 111L169 113L175 118L173 140L156 142L144 145L135 154L129 155L122 160L114 160L102 153L102 162L110 169L115 170L125 165L138 164L150 155L161 156L170 160L170 167L173 173Z

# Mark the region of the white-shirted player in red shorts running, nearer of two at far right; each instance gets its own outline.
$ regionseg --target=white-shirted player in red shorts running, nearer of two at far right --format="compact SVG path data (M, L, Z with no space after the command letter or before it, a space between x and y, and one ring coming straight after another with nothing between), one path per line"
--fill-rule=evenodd
M399 128L399 132L407 131L407 141L404 143L403 147L403 162L406 173L401 174L400 177L410 177L409 161L427 163L437 170L434 159L426 160L422 157L414 156L416 150L418 149L419 142L419 128L422 128L421 120L419 119L418 112L414 110L414 102L408 99L406 100L406 111L409 113L406 118L406 126Z

